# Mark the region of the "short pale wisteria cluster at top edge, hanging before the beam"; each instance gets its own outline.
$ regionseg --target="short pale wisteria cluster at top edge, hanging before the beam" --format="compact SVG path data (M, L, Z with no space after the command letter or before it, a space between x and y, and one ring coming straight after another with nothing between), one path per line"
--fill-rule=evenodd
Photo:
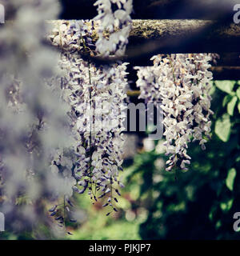
M98 0L94 6L98 6L98 16L94 20L100 22L96 42L98 53L102 56L122 56L131 29L133 0Z

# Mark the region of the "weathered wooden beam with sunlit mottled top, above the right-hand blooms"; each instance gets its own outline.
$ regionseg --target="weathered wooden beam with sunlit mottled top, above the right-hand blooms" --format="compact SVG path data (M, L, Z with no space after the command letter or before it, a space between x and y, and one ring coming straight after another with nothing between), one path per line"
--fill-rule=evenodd
M52 21L56 30L59 24L69 22ZM130 58L134 66L148 66L151 65L151 54L239 52L240 26L217 24L205 20L134 20L126 61ZM98 23L95 23L95 30L96 35ZM94 36L94 40L97 38ZM225 66L224 63L221 65Z

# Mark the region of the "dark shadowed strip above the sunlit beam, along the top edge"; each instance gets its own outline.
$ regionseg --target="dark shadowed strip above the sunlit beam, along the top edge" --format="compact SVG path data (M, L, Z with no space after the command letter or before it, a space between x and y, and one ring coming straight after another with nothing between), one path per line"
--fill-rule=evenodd
M134 0L132 18L211 19L219 11L233 11L232 0ZM90 19L97 14L95 0L61 0L63 19Z

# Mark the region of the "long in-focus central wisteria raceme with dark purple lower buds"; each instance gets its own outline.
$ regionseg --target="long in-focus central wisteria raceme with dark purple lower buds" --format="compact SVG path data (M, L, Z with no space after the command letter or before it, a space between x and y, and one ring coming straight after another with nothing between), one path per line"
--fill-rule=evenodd
M63 42L65 49L59 65L66 73L61 79L62 99L70 104L70 126L75 138L71 161L77 184L73 190L78 194L88 191L94 201L106 197L103 206L117 211L117 186L123 186L118 172L122 170L126 63L94 66L82 60L79 46L83 51L95 50L93 30L87 24L94 23L66 22L60 24L61 32L54 31L50 36L56 44ZM55 39L59 34L61 37Z

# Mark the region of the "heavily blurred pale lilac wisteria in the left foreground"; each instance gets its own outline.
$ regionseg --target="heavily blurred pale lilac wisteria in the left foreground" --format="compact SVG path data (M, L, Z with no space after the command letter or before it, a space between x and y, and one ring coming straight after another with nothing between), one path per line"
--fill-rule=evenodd
M59 83L50 82L60 71L58 54L42 43L57 1L4 4L11 22L0 30L0 211L8 228L20 232L47 222L44 203L68 193L66 186L59 190L65 173L50 176L50 162L72 136L69 106L59 98Z

